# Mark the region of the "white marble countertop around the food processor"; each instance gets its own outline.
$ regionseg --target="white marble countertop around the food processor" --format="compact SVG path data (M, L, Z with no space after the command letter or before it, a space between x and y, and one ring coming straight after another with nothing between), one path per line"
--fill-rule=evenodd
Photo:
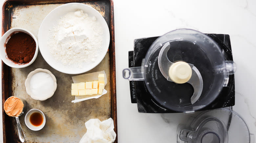
M122 78L134 39L160 36L177 28L230 35L237 63L233 109L245 119L251 133L256 134L256 1L114 0L114 14L119 143L174 143L177 125L192 116L138 113L137 105L130 101L129 82ZM2 140L0 110L0 143Z

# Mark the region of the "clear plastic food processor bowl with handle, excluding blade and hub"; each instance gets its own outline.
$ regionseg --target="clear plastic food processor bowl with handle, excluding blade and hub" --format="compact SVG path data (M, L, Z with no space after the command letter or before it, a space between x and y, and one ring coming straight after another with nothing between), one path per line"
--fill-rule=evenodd
M170 62L184 61L195 66L202 75L203 91L195 103L190 102L192 95L186 92L187 89L193 93L193 87L189 87L188 83L167 81L159 70L158 56L167 42L170 45L167 52ZM142 60L141 67L124 69L123 77L128 80L144 80L151 96L164 108L194 112L214 101L222 88L227 86L229 74L235 71L236 64L224 59L219 45L213 39L192 29L177 29L155 40Z

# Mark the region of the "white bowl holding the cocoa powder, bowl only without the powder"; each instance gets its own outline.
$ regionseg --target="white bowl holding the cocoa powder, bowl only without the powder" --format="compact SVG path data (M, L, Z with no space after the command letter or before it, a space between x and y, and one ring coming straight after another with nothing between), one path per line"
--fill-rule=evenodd
M19 63L14 63L11 59L9 59L7 57L7 54L6 54L6 47L5 47L5 43L6 43L6 40L9 38L9 36L14 33L14 32L24 32L24 33L27 33L29 34L34 40L35 40L35 43L36 43L36 48L35 48L35 55L34 57L32 58L32 60L29 62L29 63L26 63L26 64L19 64ZM38 53L38 42L37 42L37 39L36 37L28 30L26 29L23 29L23 28L11 28L10 30L8 30L1 38L0 40L0 56L1 56L1 59L3 60L3 62L12 67L12 68L24 68L24 67L27 67L29 65L31 65L36 57L37 57L37 53Z

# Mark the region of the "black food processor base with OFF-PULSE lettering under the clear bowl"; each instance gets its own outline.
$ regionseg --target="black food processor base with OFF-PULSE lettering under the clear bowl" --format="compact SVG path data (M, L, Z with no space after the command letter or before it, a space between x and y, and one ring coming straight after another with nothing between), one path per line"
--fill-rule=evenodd
M229 35L206 34L219 44L225 60L233 60ZM129 67L141 66L150 45L158 37L141 38L134 40L134 51L129 51ZM140 113L176 113L157 103L150 95L144 81L130 81L131 102L137 103ZM210 110L235 105L234 74L229 75L227 87L223 87L219 96L201 110Z

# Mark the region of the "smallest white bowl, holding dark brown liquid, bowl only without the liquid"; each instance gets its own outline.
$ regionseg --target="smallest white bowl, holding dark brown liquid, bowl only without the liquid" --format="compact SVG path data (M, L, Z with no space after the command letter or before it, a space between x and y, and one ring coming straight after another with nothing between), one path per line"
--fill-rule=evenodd
M30 116L31 116L34 112L38 112L38 113L40 113L40 114L43 116L43 123L42 123L40 126L34 126L34 125L32 125L31 122L30 122L30 120L29 120ZM38 110L38 109L31 109L31 110L29 110L28 113L27 113L26 116L25 116L24 121L25 121L26 126L27 126L30 130L32 130L32 131L39 131L39 130L43 129L43 127L45 126L45 123L46 123L46 119L45 119L44 112L42 112L41 110Z

